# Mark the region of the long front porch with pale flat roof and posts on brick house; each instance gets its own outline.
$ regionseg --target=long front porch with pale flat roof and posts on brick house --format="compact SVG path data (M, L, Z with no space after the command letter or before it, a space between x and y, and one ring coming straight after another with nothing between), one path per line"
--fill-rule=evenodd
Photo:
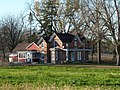
M60 64L66 62L86 62L92 61L89 55L92 55L91 49L61 49L50 48L51 63Z

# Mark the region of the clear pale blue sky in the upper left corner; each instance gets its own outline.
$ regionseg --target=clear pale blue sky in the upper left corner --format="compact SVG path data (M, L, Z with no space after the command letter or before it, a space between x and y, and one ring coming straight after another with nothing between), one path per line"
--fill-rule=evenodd
M27 10L27 3L32 0L0 0L0 17L19 15Z

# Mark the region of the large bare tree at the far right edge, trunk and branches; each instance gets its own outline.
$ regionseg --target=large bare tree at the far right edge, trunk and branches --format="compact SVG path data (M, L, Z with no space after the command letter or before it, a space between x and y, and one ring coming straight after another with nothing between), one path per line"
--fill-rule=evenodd
M109 30L109 37L115 47L117 64L120 65L120 0L103 0L102 19Z

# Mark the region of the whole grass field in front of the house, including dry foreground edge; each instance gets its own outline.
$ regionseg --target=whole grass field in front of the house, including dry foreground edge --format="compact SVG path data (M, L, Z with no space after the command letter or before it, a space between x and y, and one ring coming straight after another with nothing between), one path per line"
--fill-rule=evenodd
M0 90L19 88L57 88L72 90L120 90L119 67L85 66L8 66L0 67ZM25 89L25 87L27 89ZM48 89L49 88L49 89ZM6 89L7 90L7 89ZM9 89L8 89L9 90ZM15 89L16 90L16 89ZM58 89L57 89L58 90Z

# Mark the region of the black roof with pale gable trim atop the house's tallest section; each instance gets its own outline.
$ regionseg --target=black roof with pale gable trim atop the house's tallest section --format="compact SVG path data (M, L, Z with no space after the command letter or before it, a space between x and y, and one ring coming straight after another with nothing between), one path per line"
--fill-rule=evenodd
M58 36L58 38L63 42L63 43L71 43L74 39L74 35L69 34L69 33L54 33L51 38L49 39L49 42L55 37L55 35Z

